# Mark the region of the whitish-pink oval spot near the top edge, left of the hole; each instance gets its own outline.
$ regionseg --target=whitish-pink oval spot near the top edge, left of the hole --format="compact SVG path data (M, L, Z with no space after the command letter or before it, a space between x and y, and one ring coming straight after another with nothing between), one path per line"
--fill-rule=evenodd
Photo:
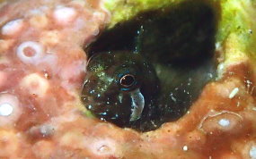
M76 12L74 8L60 6L54 11L53 16L58 23L66 24L75 19Z

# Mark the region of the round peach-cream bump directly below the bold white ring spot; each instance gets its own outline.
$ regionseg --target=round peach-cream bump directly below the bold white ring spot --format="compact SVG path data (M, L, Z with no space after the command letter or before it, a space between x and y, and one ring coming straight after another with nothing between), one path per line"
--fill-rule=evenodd
M21 82L22 88L26 89L31 95L44 96L49 89L49 82L37 73L25 76Z

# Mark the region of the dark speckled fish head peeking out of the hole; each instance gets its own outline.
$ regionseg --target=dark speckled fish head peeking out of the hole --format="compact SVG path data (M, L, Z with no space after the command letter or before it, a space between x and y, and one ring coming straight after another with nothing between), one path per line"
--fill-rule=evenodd
M137 83L132 88L122 90L124 88L119 86L119 79L126 74L133 74ZM120 127L134 127L137 120L146 124L153 119L150 112L156 111L152 101L157 96L158 79L153 66L140 54L128 51L94 54L87 65L84 80L82 101L98 118ZM137 95L131 95L135 90L143 96L140 98L143 101L137 101L143 102L143 113L138 114L137 120L131 117L131 114L136 114L132 110L135 106L133 96Z

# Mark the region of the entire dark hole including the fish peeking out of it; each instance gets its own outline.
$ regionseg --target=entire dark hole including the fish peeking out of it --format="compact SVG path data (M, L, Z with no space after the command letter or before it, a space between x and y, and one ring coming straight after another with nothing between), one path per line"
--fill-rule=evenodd
M102 121L147 131L188 112L216 78L215 17L207 4L142 13L90 46L81 99Z

